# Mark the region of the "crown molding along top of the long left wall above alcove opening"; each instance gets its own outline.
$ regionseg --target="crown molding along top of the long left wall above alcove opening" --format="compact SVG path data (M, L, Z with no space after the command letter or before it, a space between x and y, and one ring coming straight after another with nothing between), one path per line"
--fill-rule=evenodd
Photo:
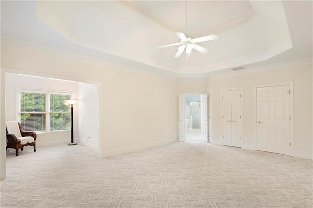
M54 55L54 56L66 58L69 60L84 62L84 63L88 63L88 64L93 64L93 65L98 65L98 66L102 66L102 67L110 68L110 69L114 69L114 70L133 71L136 73L146 74L146 75L153 76L153 77L159 77L159 78L169 80L169 81L174 81L174 82L179 81L179 79L178 79L179 74L177 74L175 72L170 73L170 71L169 71L169 74L152 72L152 71L136 68L136 67L129 66L129 65L124 65L124 64L121 64L118 62L110 62L107 60L102 60L102 59L98 59L98 58L94 58L94 57L90 57L90 56L85 56L82 54L69 52L69 51L62 50L62 49L56 49L53 47L43 46L43 45L32 43L32 42L22 42L22 41L16 41L13 39L9 39L6 37L1 37L1 46L15 47L15 48L20 48L20 49L24 49L24 50L35 51L38 53Z

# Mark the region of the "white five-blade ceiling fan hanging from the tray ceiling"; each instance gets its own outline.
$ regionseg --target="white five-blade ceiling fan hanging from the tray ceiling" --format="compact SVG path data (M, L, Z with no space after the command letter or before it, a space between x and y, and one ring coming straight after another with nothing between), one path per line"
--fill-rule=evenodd
M175 58L179 57L182 54L182 52L185 50L185 48L186 48L187 57L190 56L192 49L200 51L201 53L207 53L208 50L206 50L205 48L203 48L202 46L200 46L196 43L197 42L212 41L212 40L218 39L217 35L209 35L209 36L203 36L200 38L191 39L191 38L187 38L184 33L177 32L175 34L180 38L180 42L157 47L157 48L164 48L164 47L173 46L173 45L180 45L178 48L178 52L175 55Z

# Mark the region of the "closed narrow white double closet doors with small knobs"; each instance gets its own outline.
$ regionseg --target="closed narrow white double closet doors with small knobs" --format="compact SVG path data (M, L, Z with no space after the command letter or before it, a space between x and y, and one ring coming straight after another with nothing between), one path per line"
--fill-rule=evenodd
M241 147L241 90L222 92L223 144Z

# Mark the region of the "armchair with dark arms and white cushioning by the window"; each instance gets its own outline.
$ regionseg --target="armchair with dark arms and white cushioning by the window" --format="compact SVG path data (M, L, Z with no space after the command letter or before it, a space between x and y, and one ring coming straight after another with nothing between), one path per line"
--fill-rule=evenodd
M6 149L13 148L16 150L16 156L19 156L19 149L23 150L24 146L34 146L36 152L37 134L33 131L23 131L22 125L17 121L5 122L6 125Z

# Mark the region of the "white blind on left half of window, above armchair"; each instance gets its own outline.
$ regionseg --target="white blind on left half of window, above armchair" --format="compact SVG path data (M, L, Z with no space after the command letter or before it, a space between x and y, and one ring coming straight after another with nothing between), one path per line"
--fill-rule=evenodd
M20 94L21 125L26 131L45 131L45 93Z

